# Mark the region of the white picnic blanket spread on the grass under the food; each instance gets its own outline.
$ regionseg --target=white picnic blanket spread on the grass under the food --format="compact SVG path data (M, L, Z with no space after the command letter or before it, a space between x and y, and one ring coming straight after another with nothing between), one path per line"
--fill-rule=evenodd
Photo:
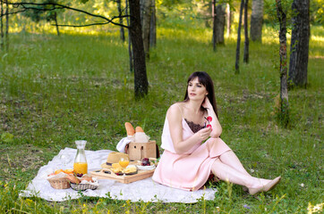
M89 172L100 169L100 165L107 161L109 150L86 151ZM62 202L69 199L77 199L81 194L72 188L57 190L51 187L47 181L47 175L55 169L72 169L72 163L76 149L65 148L61 150L52 161L38 170L38 175L30 182L26 190L21 191L21 197L37 196L47 201ZM63 156L65 157L62 159ZM65 161L65 165L64 165ZM151 177L122 184L114 180L98 180L99 186L96 190L83 191L83 195L92 197L111 197L116 200L130 200L132 202L184 202L192 203L200 199L213 200L215 189L205 189L188 192L155 183Z

